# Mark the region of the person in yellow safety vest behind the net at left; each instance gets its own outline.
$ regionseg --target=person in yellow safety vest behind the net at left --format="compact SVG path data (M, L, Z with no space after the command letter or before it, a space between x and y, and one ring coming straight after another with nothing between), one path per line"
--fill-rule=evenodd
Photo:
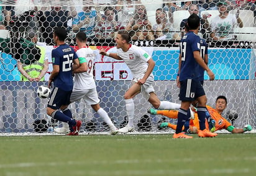
M30 31L27 40L19 41L21 47L18 49L17 66L21 72L21 81L44 81L45 73L48 70L48 57L43 46L36 45L37 34ZM27 44L27 48L24 47ZM33 46L34 45L34 46ZM24 50L21 55L19 50ZM19 57L19 58L18 58Z

